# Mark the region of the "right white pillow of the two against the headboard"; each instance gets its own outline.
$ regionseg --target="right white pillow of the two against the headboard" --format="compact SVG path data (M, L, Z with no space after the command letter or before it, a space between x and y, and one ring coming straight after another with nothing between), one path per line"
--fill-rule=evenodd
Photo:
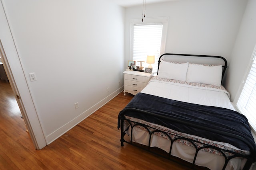
M186 78L187 82L220 86L222 78L222 66L204 66L202 64L189 63Z

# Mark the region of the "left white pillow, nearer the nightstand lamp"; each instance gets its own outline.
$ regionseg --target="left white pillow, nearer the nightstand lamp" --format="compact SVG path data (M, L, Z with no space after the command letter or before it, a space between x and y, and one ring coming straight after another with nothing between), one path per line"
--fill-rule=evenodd
M188 63L180 64L161 61L158 70L158 77L186 81L187 70Z

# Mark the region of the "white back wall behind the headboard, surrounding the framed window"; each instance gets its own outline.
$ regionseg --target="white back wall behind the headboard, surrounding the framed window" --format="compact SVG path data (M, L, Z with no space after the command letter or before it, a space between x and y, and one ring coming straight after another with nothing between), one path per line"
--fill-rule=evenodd
M146 5L146 18L169 16L165 53L220 55L230 61L247 0L180 0ZM130 59L130 20L142 6L125 10L125 60Z

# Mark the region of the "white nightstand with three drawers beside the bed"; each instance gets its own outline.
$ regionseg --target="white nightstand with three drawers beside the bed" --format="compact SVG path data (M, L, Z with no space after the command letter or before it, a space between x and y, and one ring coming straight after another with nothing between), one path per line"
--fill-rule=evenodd
M125 92L136 95L153 77L153 73L145 73L139 71L124 71L124 96Z

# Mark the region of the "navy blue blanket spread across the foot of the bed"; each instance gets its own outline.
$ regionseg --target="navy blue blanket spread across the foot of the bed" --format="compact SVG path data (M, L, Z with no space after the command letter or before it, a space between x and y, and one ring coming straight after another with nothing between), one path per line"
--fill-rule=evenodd
M129 104L122 111L120 111L118 115L118 129L120 127L120 116L125 114L130 117L135 117L151 123L162 125L164 127L168 127L175 131L196 135L213 141L230 143L242 150L250 150L248 143L237 139L236 137L233 138L225 134L222 135L209 132L202 130L201 128L191 127L190 125L184 125L178 122L173 122L167 119L162 119L143 113L138 114L134 111L127 111L127 108L136 108L151 113L156 113L158 115L172 117L180 121L192 123L193 125L208 127L210 129L216 129L222 132L238 135L240 136L238 138L244 139L244 141L251 145L253 148L251 152L254 152L256 148L248 120L244 115L230 109L213 106L202 106L198 104L191 104L161 98L158 96L152 96L149 94L138 93L129 102Z

